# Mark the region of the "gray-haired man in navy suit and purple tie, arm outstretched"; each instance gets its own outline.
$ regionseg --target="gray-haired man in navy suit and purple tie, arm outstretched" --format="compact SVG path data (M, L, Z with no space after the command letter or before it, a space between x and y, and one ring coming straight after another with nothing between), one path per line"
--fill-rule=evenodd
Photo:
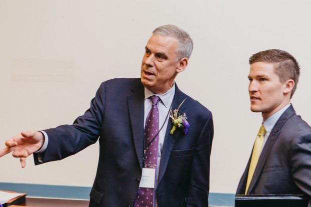
M212 115L174 82L192 46L181 28L156 28L140 79L103 82L72 125L22 132L0 156L13 151L24 167L32 153L36 164L61 160L99 138L89 207L207 207Z

